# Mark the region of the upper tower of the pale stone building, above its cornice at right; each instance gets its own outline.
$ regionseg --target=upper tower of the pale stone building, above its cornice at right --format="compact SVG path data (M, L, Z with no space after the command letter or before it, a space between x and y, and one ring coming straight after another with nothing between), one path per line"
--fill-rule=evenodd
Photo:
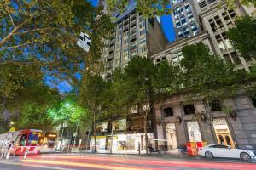
M255 62L254 59L245 59L232 47L227 31L235 26L237 16L251 14L252 10L239 4L239 1L236 10L232 10L221 0L197 1L195 8L202 23L202 30L208 31L216 54L227 63L235 64L238 69L248 71L249 66Z

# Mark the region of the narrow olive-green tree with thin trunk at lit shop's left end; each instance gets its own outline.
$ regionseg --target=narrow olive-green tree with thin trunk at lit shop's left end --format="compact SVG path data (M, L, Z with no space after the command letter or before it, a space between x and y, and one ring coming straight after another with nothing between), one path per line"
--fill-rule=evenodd
M92 132L94 135L94 147L96 152L96 119L102 111L102 91L104 82L99 74L85 71L79 91L79 103L84 106L92 116Z

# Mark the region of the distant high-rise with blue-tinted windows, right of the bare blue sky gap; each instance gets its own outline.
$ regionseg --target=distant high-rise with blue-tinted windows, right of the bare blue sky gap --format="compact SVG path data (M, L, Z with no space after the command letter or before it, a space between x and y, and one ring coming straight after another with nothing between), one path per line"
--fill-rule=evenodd
M176 39L193 37L201 31L193 0L171 0Z

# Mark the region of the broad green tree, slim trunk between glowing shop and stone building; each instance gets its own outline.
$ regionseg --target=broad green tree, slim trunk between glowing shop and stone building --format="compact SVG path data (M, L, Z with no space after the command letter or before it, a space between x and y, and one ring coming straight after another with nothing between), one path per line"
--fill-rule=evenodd
M153 114L154 102L176 92L177 67L163 62L154 65L148 58L136 57L125 67L125 81L131 83L126 103L137 105L143 116L145 147L148 153L148 116Z

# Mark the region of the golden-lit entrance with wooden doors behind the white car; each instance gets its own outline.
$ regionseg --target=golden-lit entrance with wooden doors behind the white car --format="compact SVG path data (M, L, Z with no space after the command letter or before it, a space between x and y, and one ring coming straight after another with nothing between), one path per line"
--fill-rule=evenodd
M213 119L213 127L218 144L230 145L233 148L235 147L225 118Z

